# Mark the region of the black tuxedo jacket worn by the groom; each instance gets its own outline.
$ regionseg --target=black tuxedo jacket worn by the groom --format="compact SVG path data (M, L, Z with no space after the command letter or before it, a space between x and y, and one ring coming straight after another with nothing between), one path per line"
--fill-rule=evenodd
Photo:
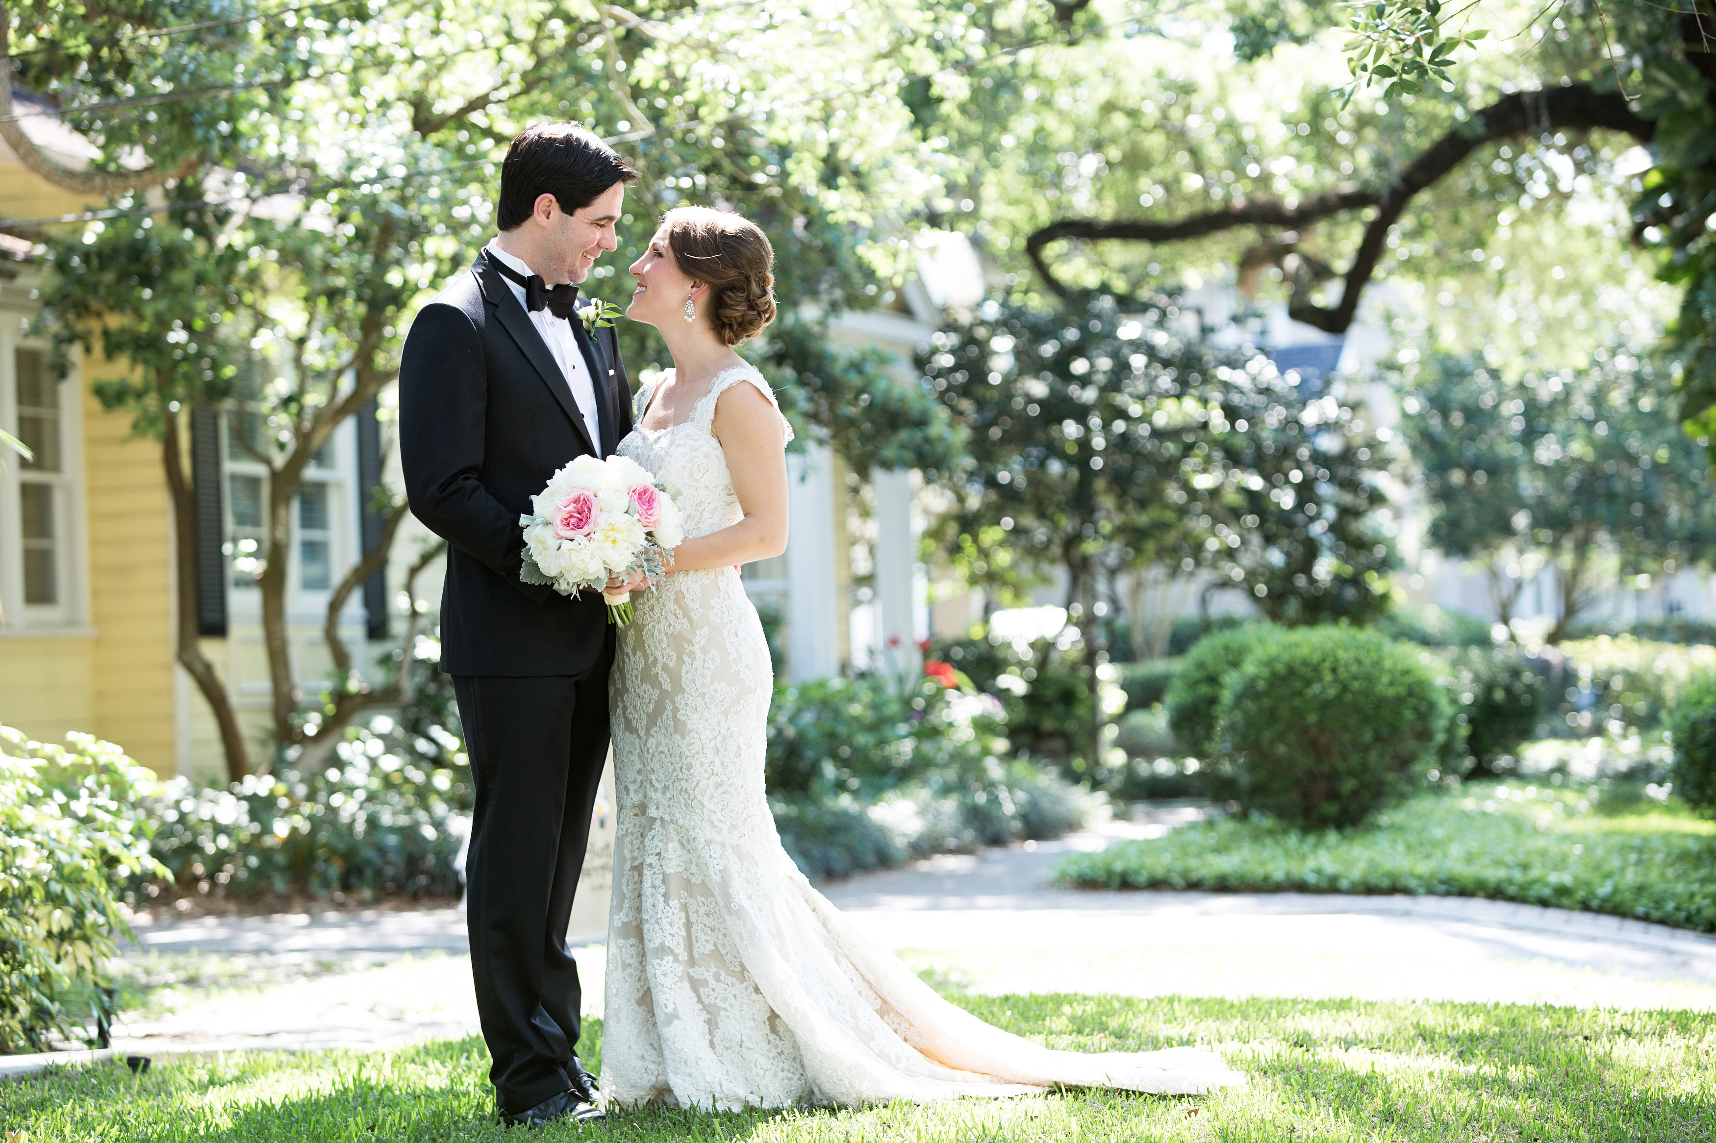
M518 579L530 497L575 456L631 432L613 326L573 319L604 440L590 440L566 375L506 279L477 257L419 310L400 362L400 461L412 514L448 542L441 670L582 675L607 637L599 591L570 600Z

